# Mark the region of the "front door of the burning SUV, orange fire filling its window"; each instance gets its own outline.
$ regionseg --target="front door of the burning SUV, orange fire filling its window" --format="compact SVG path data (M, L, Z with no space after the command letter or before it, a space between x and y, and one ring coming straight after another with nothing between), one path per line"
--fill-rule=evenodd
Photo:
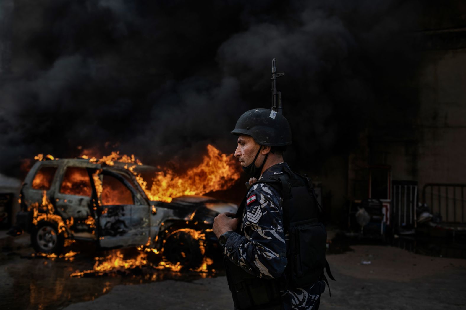
M149 238L149 206L120 174L103 169L96 184L99 243L104 248L140 245ZM96 181L96 180L95 180Z

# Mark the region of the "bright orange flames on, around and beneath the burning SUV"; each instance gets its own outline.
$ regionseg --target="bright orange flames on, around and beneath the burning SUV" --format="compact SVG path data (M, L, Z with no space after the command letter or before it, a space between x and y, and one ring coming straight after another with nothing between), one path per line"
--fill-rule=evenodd
M236 168L233 154L222 154L212 145L207 145L207 155L203 156L202 162L197 167L190 168L181 175L176 175L171 169L165 169L164 171L156 172L151 180L144 180L143 177L137 173L136 168L137 166L142 165L142 162L136 159L134 155L120 155L119 152L112 152L108 156L103 156L101 159L97 159L96 157L92 157L88 150L86 151L86 154L83 154L81 157L89 160L89 162L105 163L110 166L113 166L115 162L126 163L124 168L128 169L135 176L137 182L151 201L171 202L173 198L183 195L204 195L211 191L224 190L232 186L234 182L240 178L240 173ZM45 160L46 158L50 160L56 159L52 155L47 155L44 157L43 154L39 154L34 158L39 161ZM100 178L101 172L102 170L97 169L96 172L92 175L92 179L96 187L99 205L102 205L101 200L103 199L103 192L105 192L102 179ZM65 178L61 187L61 191L67 193L71 189L81 188L82 192L87 194L90 184L88 183L89 177L87 175L86 177L84 177L84 175L81 176L73 171L67 175L67 178ZM42 179L38 179L37 182L44 182ZM76 190L74 190L74 192L76 192ZM42 197L42 203L33 203L30 205L30 209L34 209L34 224L37 224L37 222L42 219L55 221L57 223L59 233L64 232L65 236L67 236L67 228L73 225L73 218L67 220L66 223L64 223L60 216L54 214L55 210L53 209L52 204L48 201L45 191ZM96 209L96 204L94 204L94 209ZM151 209L153 214L157 213L155 206L152 205ZM85 223L90 227L95 228L96 224L92 217L87 218ZM202 255L205 255L205 233L206 231L211 231L211 229L204 231L198 231L194 229L178 229L176 231L179 230L188 232L194 239L198 240L199 249L201 250ZM98 275L102 275L112 270L133 269L141 266L150 266L156 269L170 269L172 271L179 271L183 267L179 262L170 263L166 260L162 260L157 265L153 265L148 261L147 255L151 252L160 254L158 249L149 248L147 245L141 245L138 247L138 249L141 250L141 253L136 258L124 259L123 254L120 251L118 251L116 254L112 254L104 258L96 257L96 263L94 264L93 270L76 270L70 276L79 277L86 273L96 273ZM54 259L55 257L52 256L53 255L49 255L47 257ZM206 273L209 271L208 266L212 265L212 263L212 259L204 257L204 260L200 264L199 268L192 269L192 271ZM215 272L214 270L210 271Z

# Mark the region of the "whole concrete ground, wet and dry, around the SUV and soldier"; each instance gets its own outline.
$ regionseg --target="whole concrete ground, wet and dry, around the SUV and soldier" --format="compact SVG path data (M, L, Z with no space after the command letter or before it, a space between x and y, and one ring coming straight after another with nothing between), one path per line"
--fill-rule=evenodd
M32 253L27 236L0 234L0 246L1 309L233 309L225 276L175 281L176 276L160 274L155 282L137 273L70 278L72 271L92 266L93 256L72 262L27 258ZM327 256L337 281L330 283L332 297L328 290L322 296L321 309L466 309L465 259L391 246L351 249Z

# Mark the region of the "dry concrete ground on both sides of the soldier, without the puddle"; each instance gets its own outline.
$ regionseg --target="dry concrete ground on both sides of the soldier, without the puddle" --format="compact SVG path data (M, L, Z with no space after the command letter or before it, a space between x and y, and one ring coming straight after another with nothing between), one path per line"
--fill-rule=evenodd
M466 261L414 255L390 246L354 246L328 256L337 281L322 296L320 309L466 309ZM369 262L363 264L361 262ZM94 301L66 310L138 309L231 310L226 277L192 283L164 281L116 286Z

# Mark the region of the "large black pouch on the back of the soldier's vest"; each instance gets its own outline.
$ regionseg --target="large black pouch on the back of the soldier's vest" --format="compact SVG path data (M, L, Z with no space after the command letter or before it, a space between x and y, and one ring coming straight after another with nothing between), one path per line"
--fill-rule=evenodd
M327 232L321 222L290 225L291 283L295 287L312 285L325 268Z

